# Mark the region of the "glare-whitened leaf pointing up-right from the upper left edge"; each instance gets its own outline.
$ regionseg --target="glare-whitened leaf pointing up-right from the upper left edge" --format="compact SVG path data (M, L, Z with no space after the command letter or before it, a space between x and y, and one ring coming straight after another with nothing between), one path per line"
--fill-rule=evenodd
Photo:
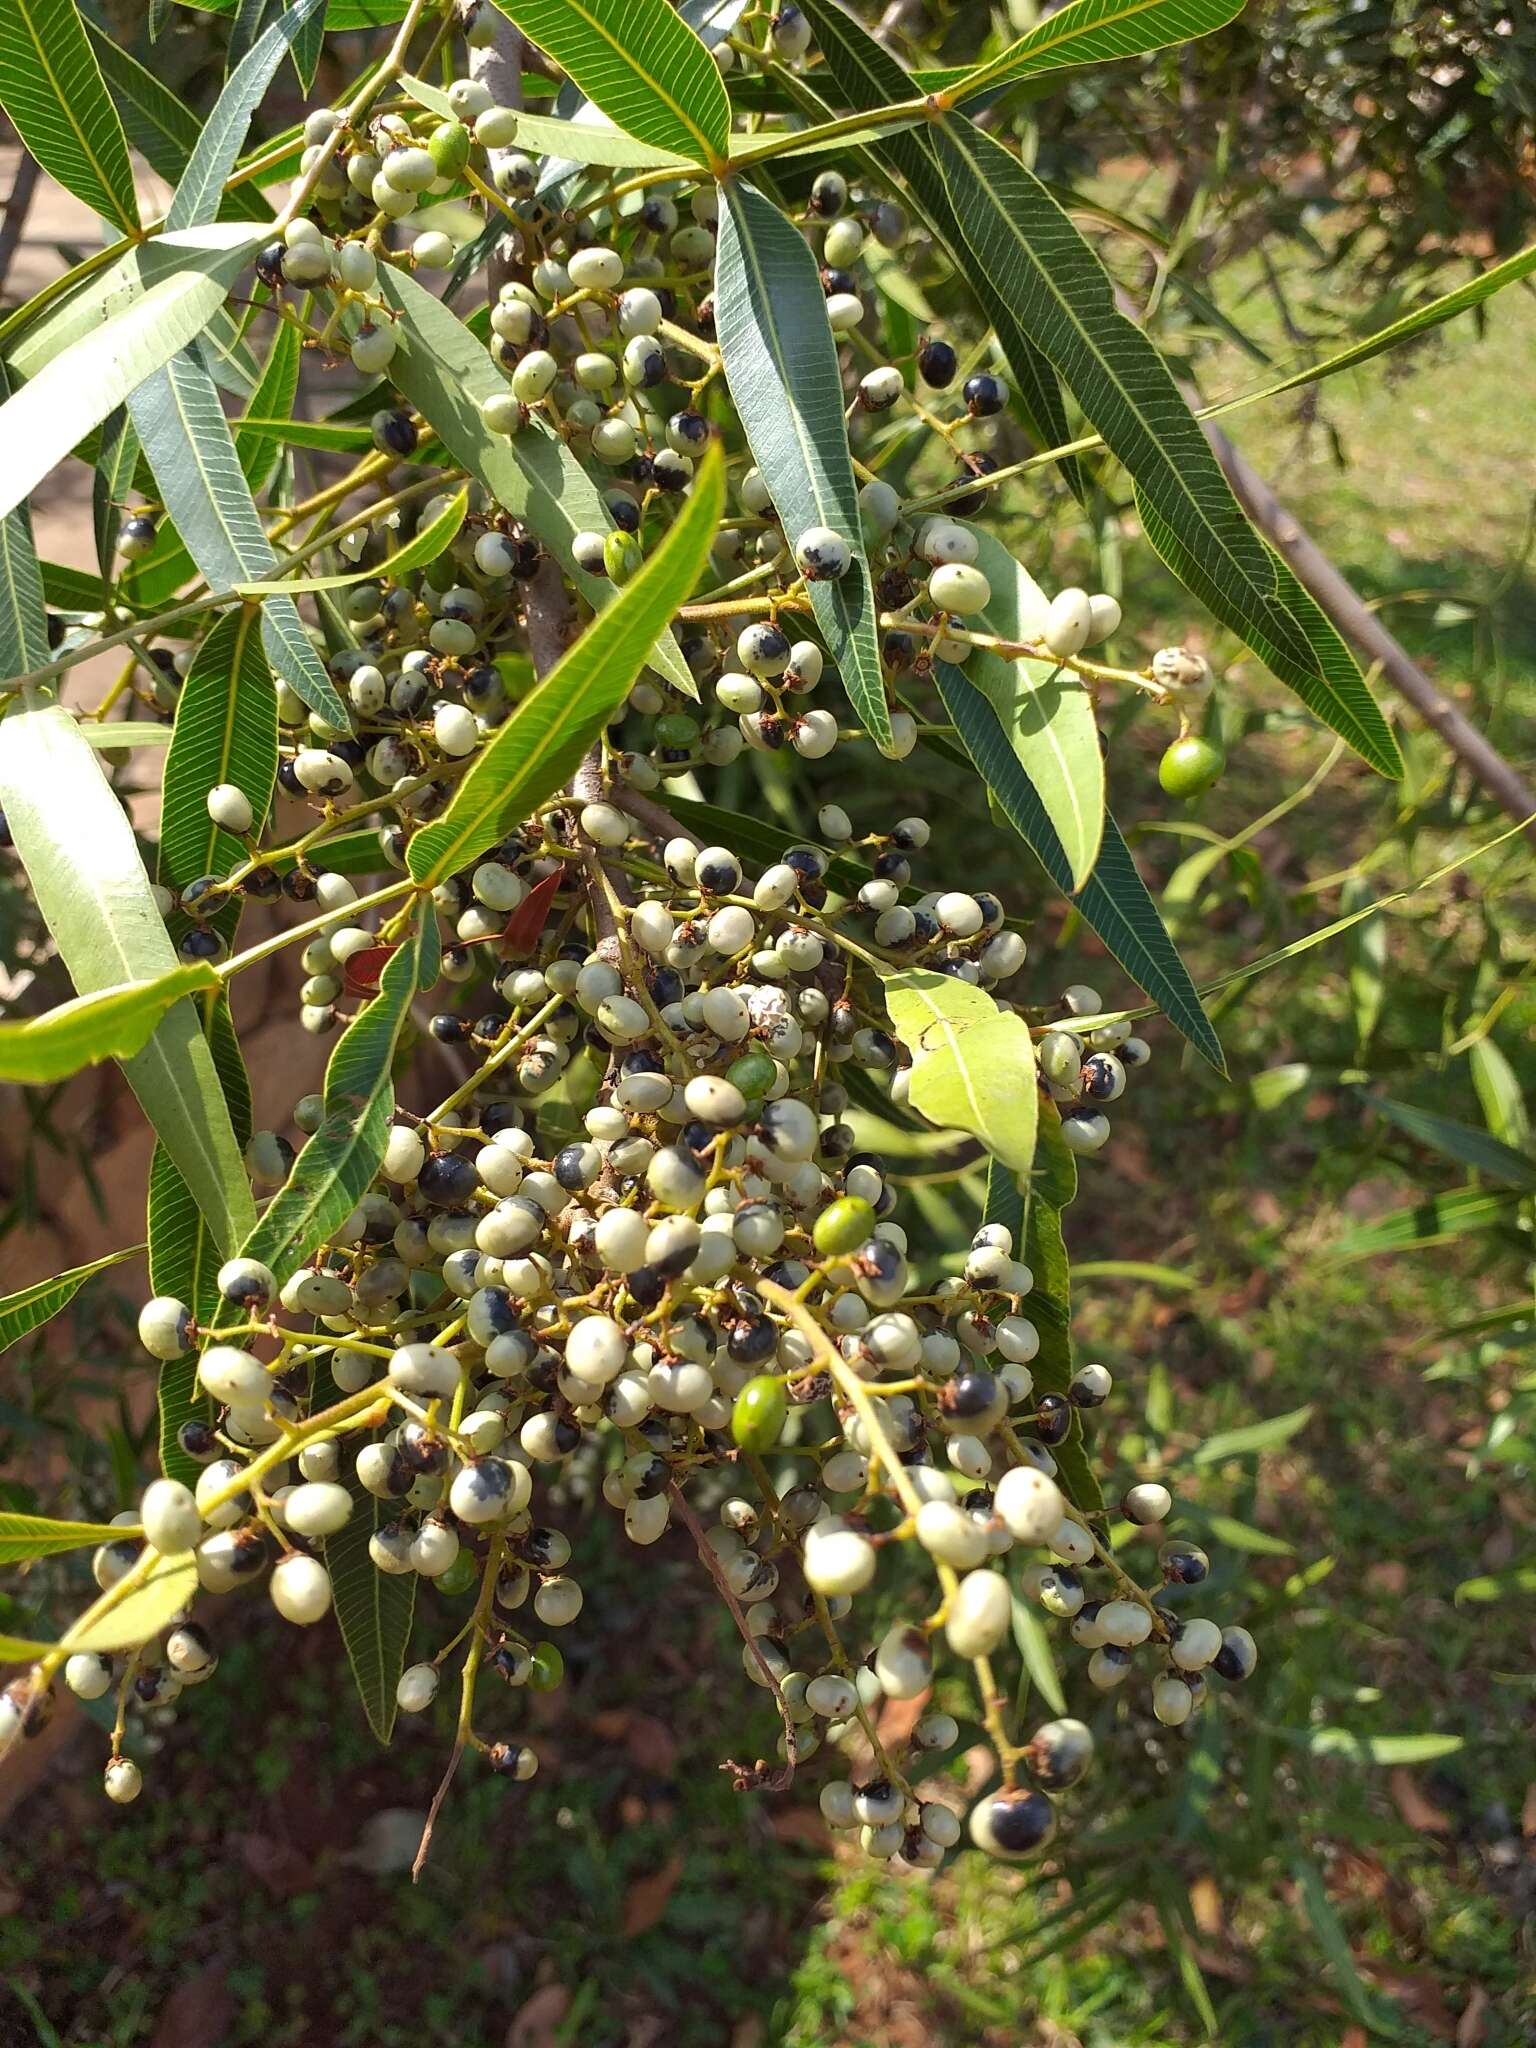
M229 223L219 231L227 238ZM104 326L88 326L78 340L70 340L43 360L37 375L0 406L0 436L6 446L0 512L10 512L29 498L92 426L100 426L109 412L213 319L223 305L229 279L258 240L246 223L236 223L233 231L240 236L233 248L227 240L223 248L207 248L160 238L147 244L145 252L135 250L131 264L117 279L121 303ZM201 227L197 233L207 238L213 229ZM154 268L160 274L145 287L143 276L152 270L147 248L158 252ZM86 293L82 299L100 307L96 293ZM68 313L74 324L78 307L72 303ZM12 367L37 354L41 346L37 336L31 342L31 352L12 350Z

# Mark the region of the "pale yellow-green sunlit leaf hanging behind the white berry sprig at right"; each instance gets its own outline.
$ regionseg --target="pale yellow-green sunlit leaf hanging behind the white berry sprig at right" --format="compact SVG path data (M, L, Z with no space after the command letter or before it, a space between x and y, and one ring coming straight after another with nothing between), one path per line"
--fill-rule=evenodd
M981 612L985 631L1010 641L1040 639L1051 610L1047 594L985 526L967 526L967 532L977 543L977 567L991 584L991 604ZM1010 662L985 647L965 664L965 678L997 713L1057 836L1071 887L1081 889L1104 842L1104 754L1094 698L1055 662Z

